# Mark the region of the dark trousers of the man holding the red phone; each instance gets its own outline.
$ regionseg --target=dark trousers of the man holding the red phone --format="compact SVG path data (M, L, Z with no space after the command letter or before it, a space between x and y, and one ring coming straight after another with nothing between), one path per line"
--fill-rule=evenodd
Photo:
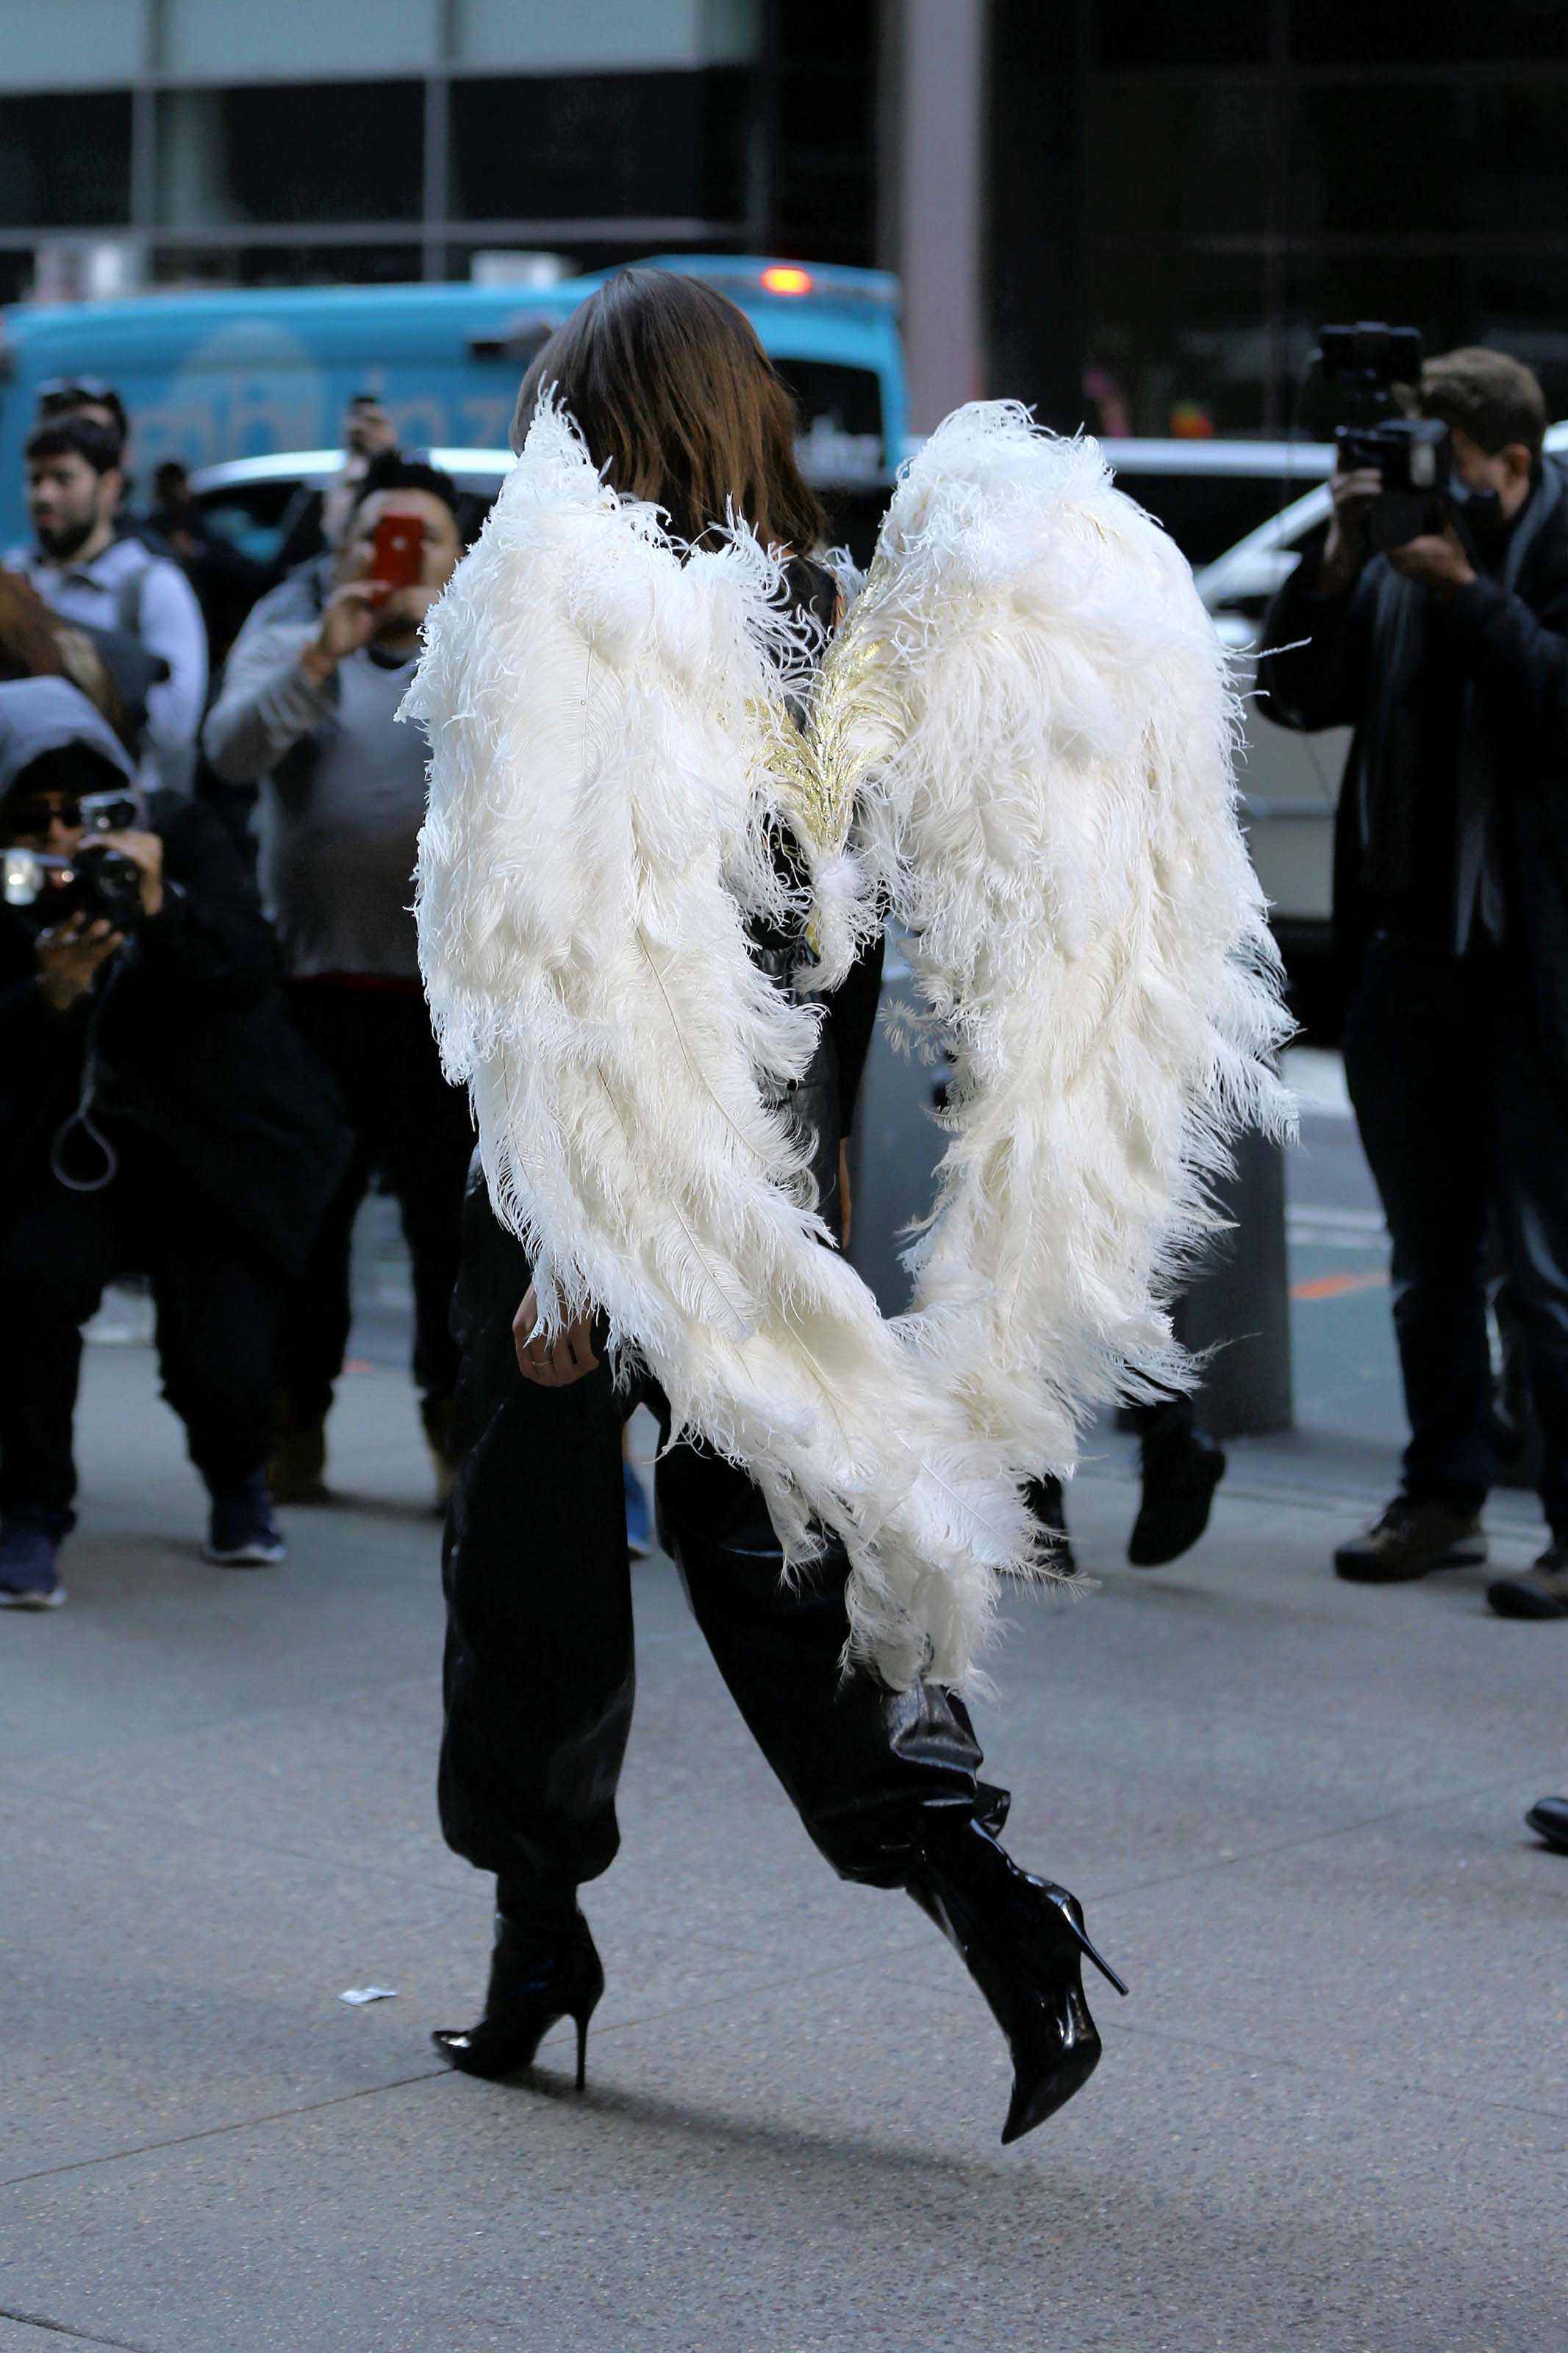
M456 1388L451 1287L458 1273L463 1181L473 1153L468 1096L442 1078L418 993L296 981L289 1019L339 1082L355 1146L320 1224L310 1264L289 1289L277 1339L277 1386L296 1421L324 1421L343 1369L350 1245L360 1202L381 1169L402 1212L414 1264L414 1381L430 1407Z

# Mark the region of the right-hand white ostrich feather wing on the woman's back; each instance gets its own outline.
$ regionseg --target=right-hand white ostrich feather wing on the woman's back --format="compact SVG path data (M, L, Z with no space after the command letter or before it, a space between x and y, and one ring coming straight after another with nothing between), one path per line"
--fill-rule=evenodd
M933 1379L1020 1473L1190 1379L1161 1301L1244 1125L1286 1129L1237 704L1173 541L1093 442L957 409L823 664L825 800L910 934L950 1144L912 1252Z

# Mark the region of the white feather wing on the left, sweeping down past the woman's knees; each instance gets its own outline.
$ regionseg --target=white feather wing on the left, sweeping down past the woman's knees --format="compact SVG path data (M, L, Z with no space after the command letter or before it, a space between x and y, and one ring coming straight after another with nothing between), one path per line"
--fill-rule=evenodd
M541 409L404 706L430 734L421 962L545 1325L597 1308L792 1558L842 1537L853 1657L966 1685L997 1572L1032 1562L1011 1457L823 1247L785 1111L820 1014L748 948L790 913L783 614L748 534L675 548ZM870 918L851 845L806 833L832 962Z

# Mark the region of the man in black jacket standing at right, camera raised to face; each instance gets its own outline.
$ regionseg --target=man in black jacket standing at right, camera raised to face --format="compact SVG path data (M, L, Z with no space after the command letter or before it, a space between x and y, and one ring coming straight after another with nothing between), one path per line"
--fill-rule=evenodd
M1472 494L1368 553L1380 492L1335 471L1333 522L1269 612L1260 708L1354 727L1335 828L1352 974L1345 1075L1394 1240L1410 1445L1382 1518L1335 1553L1363 1584L1486 1558L1495 1475L1486 1233L1523 1325L1552 1546L1493 1607L1568 1617L1568 485L1528 367L1422 374Z

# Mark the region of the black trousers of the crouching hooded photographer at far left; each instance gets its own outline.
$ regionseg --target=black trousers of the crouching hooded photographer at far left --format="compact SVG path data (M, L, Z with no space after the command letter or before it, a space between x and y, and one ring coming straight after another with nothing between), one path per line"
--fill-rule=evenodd
M284 1278L223 1209L134 1134L120 1174L71 1193L47 1169L7 1195L0 1231L0 1506L73 1525L82 1325L113 1275L153 1278L162 1393L209 1487L261 1471Z

